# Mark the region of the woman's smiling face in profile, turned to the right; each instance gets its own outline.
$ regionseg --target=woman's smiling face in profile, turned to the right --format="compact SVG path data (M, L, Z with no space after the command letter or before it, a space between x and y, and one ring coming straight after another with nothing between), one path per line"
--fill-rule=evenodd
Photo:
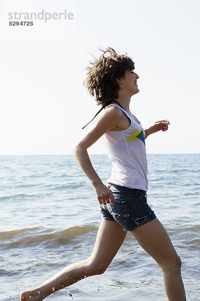
M137 87L138 78L139 76L133 70L128 70L124 73L123 78L118 79L119 87L134 95L139 92Z

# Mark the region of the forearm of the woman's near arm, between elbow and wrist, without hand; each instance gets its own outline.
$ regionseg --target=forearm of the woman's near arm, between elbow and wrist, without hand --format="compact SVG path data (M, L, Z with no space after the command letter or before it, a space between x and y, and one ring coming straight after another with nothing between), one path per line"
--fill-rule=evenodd
M81 170L85 174L85 176L89 179L92 185L102 184L100 178L96 174L91 161L89 159L87 149L81 145L77 144L73 149L73 155L80 166Z

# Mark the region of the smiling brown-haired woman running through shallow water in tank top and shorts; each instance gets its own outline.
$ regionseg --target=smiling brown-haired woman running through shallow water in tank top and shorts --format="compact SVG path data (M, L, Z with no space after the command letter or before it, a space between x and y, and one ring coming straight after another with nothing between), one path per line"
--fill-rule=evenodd
M84 83L90 95L104 110L92 129L74 148L74 156L93 185L102 220L89 258L71 264L32 290L20 294L20 300L42 300L53 291L90 275L101 274L112 261L127 231L159 264L169 301L185 301L180 274L181 261L162 224L146 203L147 165L145 141L149 134L166 131L169 122L160 120L143 130L129 111L130 97L139 92L138 75L127 55L107 48L88 67ZM101 108L101 109L102 109ZM98 112L99 113L99 112ZM112 173L106 187L94 171L87 148L104 135ZM161 243L160 243L161 241Z

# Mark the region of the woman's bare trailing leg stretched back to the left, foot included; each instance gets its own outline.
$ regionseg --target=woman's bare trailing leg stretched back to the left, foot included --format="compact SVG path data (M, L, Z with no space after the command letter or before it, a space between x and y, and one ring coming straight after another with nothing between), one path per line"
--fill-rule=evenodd
M69 286L82 278L102 274L120 248L125 231L116 222L102 219L95 245L88 259L73 263L32 290L20 293L21 301L41 301L53 291Z

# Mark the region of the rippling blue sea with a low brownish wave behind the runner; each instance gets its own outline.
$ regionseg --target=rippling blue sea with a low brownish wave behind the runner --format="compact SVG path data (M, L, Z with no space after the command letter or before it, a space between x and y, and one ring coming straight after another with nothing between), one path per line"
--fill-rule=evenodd
M106 155L90 156L106 183ZM148 204L182 260L187 300L200 299L200 155L148 155ZM0 301L16 301L89 256L100 223L93 188L73 156L0 156ZM70 296L70 294L72 297ZM162 272L128 233L104 274L45 300L166 300Z

